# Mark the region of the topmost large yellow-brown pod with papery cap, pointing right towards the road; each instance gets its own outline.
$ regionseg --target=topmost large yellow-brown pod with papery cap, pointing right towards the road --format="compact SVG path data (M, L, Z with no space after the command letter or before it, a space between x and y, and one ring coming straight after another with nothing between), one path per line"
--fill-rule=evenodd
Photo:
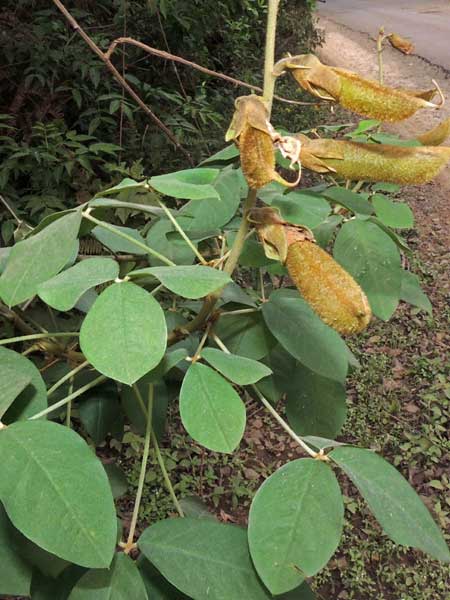
M344 108L380 121L402 121L420 108L440 106L424 97L431 92L383 86L352 71L323 65L312 54L282 59L274 72L280 74L285 69L290 70L299 85L314 96L339 102Z

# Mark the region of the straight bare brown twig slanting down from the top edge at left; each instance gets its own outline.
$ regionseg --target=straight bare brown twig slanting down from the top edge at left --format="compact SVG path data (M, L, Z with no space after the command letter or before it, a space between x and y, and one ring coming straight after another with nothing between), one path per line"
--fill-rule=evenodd
M156 124L156 126L159 127L159 129L161 129L161 131L163 131L165 133L165 135L171 140L171 142L173 142L173 144L175 144L177 149L184 154L184 156L187 158L189 164L191 166L194 166L194 162L193 162L192 157L189 154L189 152L187 150L185 150L185 148L183 148L183 146L180 144L180 142L178 141L178 139L177 139L176 135L173 133L173 131L171 129L169 129L169 127L167 127L167 125L165 125L155 115L155 113L151 110L151 108L149 108L145 104L145 102L141 99L141 97L129 85L129 83L126 81L126 79L124 79L124 77L119 73L119 71L116 69L116 67L109 60L108 53L105 54L104 52L102 52L102 50L97 46L97 44L92 40L92 38L89 37L89 35L84 31L84 29L82 29L82 27L79 25L79 23L76 21L76 19L74 19L74 17L70 14L70 12L67 10L67 8L64 6L64 4L60 0L52 0L52 1L53 1L53 4L55 4L55 6L61 11L61 13L67 19L67 21L69 22L71 27L80 34L80 36L83 38L83 40L89 46L89 48L103 61L106 68L111 72L114 79L118 83L120 83L122 88L126 92L128 92L128 94L142 108L142 110L151 118L151 120Z

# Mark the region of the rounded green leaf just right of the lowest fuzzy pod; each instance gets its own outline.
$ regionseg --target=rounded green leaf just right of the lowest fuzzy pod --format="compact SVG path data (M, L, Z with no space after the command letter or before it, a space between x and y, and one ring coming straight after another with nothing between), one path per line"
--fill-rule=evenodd
M349 221L337 235L333 254L366 292L375 315L390 319L400 299L401 262L389 236L369 221Z

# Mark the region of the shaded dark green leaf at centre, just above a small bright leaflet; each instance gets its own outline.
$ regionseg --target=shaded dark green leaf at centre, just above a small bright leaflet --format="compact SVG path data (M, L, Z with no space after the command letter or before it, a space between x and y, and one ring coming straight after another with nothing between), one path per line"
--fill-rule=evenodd
M276 344L259 312L222 317L214 332L230 352L254 360L267 356Z

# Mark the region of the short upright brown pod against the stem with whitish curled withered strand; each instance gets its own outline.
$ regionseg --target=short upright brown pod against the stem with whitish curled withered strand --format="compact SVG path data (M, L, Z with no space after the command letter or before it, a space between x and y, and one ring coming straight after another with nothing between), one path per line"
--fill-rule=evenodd
M296 181L290 183L275 170L275 145L284 156L300 167L301 143L296 138L280 136L268 119L266 104L255 95L241 96L235 102L236 111L225 139L234 140L239 146L242 172L250 188L258 189L271 181L291 187L298 184L301 170Z

